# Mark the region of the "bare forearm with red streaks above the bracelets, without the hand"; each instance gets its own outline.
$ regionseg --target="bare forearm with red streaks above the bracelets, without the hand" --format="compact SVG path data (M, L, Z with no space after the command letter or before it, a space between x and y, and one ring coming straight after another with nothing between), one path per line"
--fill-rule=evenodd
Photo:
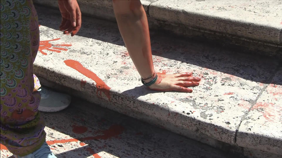
M120 11L114 4L115 16L127 51L142 78L154 73L147 16L142 4L136 1L129 9ZM132 7L135 7L132 9Z

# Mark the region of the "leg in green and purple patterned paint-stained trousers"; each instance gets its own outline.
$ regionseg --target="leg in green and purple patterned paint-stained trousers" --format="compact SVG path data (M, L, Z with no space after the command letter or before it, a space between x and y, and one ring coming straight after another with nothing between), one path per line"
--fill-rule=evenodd
M45 122L33 91L33 61L39 46L38 19L32 1L1 0L1 144L25 156L45 142ZM49 150L50 151L50 150Z

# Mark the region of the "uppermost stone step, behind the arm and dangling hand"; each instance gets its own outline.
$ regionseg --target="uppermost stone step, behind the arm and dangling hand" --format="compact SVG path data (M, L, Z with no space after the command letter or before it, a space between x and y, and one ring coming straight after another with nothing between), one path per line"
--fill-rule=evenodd
M57 1L34 3L58 7ZM111 0L78 0L83 15L115 21ZM282 2L141 0L150 30L282 59Z

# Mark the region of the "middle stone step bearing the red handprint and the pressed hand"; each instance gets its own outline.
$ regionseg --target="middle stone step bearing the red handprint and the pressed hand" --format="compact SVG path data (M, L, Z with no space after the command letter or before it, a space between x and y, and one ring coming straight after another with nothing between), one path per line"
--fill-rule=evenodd
M58 31L58 11L36 8L41 46L34 72L43 85L222 150L282 155L279 59L151 32L156 71L202 78L193 93L155 92L140 82L116 23L84 17L70 37Z

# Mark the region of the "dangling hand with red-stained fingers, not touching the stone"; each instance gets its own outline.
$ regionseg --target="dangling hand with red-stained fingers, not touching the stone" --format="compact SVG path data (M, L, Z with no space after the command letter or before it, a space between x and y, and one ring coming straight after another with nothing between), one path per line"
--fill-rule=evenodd
M64 34L71 33L74 36L81 27L81 12L76 0L58 0L58 6L62 15L59 26Z

